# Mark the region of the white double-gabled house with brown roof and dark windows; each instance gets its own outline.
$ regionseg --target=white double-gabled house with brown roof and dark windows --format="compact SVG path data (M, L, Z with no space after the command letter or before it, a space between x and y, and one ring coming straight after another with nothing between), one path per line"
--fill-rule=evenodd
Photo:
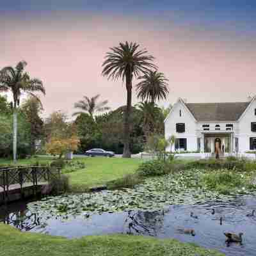
M178 99L164 120L172 151L244 153L256 150L256 97L248 102L187 103ZM169 147L168 150L171 150Z

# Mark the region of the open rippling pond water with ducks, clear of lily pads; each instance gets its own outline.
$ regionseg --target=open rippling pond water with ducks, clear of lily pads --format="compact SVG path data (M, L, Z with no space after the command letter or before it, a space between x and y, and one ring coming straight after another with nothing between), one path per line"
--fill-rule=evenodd
M212 214L212 209L215 213ZM255 196L239 196L229 202L198 205L170 205L161 211L129 211L58 218L42 218L31 214L26 202L0 208L0 222L22 231L40 232L68 238L101 234L139 234L159 238L175 238L213 248L232 256L256 254L256 216L246 217L256 209ZM198 218L191 218L190 212ZM220 225L220 217L223 223ZM193 228L195 236L181 234L178 229ZM223 232L243 232L243 244L225 243Z

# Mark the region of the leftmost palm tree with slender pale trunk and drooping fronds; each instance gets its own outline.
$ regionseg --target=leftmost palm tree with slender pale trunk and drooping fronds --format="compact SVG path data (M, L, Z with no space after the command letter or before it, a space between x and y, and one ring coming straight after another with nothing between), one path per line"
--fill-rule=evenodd
M17 161L17 108L19 107L20 95L22 92L29 93L36 97L33 92L42 92L45 95L45 88L39 79L31 79L28 73L24 72L26 61L20 61L15 68L4 67L0 70L0 92L11 91L13 95L13 161ZM40 101L40 99L38 99Z

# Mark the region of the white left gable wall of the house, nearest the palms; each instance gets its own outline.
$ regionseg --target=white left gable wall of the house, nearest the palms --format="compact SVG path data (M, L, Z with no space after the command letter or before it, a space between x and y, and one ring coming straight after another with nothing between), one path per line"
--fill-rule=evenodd
M180 116L181 110L181 116ZM185 132L176 132L176 124L184 123ZM166 118L164 122L165 138L168 139L170 136L174 135L176 138L186 138L187 139L187 150L195 151L197 149L196 140L196 121L193 118L189 110L184 106L180 100L173 106L170 115ZM174 150L175 145L173 145L172 150ZM170 150L170 147L166 148Z

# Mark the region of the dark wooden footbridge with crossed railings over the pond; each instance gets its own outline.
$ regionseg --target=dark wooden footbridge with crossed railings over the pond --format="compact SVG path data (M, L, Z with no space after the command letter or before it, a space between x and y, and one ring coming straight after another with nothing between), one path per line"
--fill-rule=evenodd
M58 177L60 168L51 166L0 167L0 205L36 195Z

